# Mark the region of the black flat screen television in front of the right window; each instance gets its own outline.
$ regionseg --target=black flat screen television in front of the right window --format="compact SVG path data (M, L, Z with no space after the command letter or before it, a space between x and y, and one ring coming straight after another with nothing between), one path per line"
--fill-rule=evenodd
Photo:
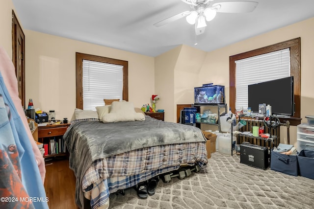
M248 85L248 105L255 113L259 104L271 106L273 115L294 115L293 76Z

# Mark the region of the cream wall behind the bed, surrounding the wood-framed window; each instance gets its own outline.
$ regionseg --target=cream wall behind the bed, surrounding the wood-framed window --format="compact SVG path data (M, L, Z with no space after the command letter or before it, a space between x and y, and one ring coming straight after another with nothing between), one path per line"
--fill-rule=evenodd
M26 104L55 110L56 118L72 117L76 107L75 53L129 61L129 101L135 107L150 102L155 92L154 58L79 42L31 30L26 36Z

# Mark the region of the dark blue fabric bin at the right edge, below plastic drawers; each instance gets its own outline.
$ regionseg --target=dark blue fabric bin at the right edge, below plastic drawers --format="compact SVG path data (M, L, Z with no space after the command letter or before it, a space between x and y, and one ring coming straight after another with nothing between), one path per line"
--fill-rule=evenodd
M298 155L300 176L314 179L314 151L303 149Z

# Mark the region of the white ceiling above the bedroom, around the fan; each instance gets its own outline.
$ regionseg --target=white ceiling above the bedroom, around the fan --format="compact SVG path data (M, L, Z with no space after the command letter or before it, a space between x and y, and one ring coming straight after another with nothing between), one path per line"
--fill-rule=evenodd
M314 17L314 0L252 0L253 12L217 13L195 37L185 18L153 25L190 10L182 0L12 1L24 29L153 57L181 44L212 51ZM220 1L232 0L213 0Z

